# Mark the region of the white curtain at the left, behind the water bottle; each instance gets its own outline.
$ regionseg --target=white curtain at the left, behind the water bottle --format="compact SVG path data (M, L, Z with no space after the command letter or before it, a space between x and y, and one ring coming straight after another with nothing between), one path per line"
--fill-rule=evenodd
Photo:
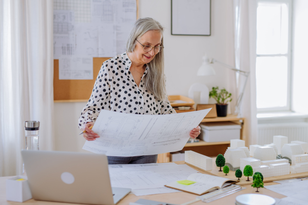
M22 173L26 120L53 149L53 1L0 1L0 176Z

